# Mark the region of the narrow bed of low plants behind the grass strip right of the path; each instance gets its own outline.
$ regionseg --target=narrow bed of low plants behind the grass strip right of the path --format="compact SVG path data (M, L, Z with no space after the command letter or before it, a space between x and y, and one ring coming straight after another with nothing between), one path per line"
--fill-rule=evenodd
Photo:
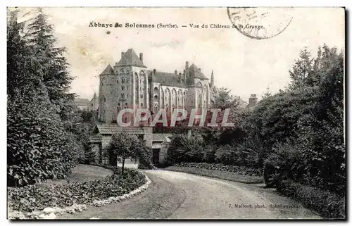
M238 166L238 165L223 165L221 163L177 163L175 164L175 166L236 172L237 174L240 174L240 175L250 175L250 176L262 175L262 172L259 169L248 168L246 166Z

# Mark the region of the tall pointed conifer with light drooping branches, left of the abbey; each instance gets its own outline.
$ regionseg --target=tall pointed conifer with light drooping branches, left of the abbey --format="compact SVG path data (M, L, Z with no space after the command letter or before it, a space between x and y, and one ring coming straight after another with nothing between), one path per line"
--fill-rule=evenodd
M73 117L75 94L69 94L68 90L74 78L70 76L68 63L63 56L65 48L56 46L54 28L48 23L48 15L41 8L37 11L38 15L27 26L27 39L41 66L39 71L49 99L58 106L61 120L69 124Z

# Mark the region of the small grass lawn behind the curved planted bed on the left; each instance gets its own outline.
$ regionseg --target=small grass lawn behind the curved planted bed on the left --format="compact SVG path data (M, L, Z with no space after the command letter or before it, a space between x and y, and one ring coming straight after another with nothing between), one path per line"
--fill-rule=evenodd
M113 171L96 165L78 164L75 168L73 168L71 174L68 175L67 178L63 180L47 180L46 182L42 182L38 185L60 185L66 184L67 182L87 182L89 180L102 180L108 175L113 175Z

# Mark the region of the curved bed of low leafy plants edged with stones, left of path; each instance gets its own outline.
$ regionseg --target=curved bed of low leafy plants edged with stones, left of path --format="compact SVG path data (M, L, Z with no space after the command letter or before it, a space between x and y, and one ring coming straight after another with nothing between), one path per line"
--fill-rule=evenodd
M46 207L65 207L73 204L92 203L95 199L108 199L131 192L146 182L141 172L125 169L121 175L121 168L108 167L113 175L103 180L89 182L74 182L57 186L39 187L27 185L25 187L8 187L8 204L11 210L31 212Z

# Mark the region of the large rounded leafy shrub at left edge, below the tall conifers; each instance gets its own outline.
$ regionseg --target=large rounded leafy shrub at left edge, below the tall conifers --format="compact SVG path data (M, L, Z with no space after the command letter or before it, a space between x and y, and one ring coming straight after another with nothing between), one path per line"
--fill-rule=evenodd
M73 134L49 108L50 104L8 101L8 186L64 178L75 166L77 144Z

